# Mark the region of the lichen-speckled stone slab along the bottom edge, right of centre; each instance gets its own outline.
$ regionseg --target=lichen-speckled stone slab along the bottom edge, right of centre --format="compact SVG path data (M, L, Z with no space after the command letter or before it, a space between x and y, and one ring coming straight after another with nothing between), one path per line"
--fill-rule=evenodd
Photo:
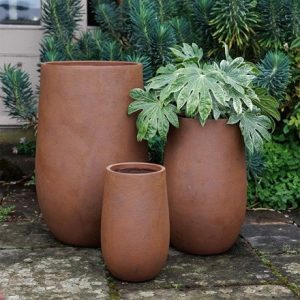
M159 289L142 291L120 291L120 298L124 300L140 299L164 299L164 300L292 300L297 299L293 293L278 285L258 285L258 286L234 286L224 288L210 288L205 290L187 290L179 289Z

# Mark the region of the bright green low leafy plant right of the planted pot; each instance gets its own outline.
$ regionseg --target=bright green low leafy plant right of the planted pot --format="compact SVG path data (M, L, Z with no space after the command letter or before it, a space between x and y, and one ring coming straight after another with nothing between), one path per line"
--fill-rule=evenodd
M249 181L250 207L270 207L279 210L300 206L300 144L266 143L264 171Z

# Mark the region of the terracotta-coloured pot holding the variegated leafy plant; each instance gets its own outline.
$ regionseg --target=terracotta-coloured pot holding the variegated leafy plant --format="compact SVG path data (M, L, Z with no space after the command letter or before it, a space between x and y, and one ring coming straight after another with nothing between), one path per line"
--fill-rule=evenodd
M227 120L182 118L165 151L171 244L184 252L210 255L236 241L246 211L244 143Z

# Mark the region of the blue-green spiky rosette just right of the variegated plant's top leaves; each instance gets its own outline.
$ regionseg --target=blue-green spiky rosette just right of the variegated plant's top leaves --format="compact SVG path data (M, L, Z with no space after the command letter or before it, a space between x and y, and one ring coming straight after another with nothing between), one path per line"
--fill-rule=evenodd
M290 79L290 61L282 52L268 52L258 64L259 74L255 83L266 88L270 95L284 100L286 88Z

